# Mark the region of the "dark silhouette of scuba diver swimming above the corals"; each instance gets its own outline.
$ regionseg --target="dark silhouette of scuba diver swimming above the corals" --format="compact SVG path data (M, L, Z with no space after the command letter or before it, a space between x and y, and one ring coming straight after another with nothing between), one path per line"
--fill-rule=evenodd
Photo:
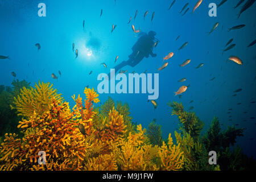
M133 50L133 53L129 55L129 59L127 61L122 61L122 63L114 67L115 72L118 72L119 69L125 67L126 65L129 65L130 67L135 67L143 60L144 57L148 57L149 55L151 55L151 57L155 57L156 54L152 52L155 45L154 40L158 40L155 38L155 35L156 32L154 31L149 31L148 34L146 34L145 32L141 32L141 34L139 34L139 36L141 37L131 48ZM108 76L110 78L110 73Z

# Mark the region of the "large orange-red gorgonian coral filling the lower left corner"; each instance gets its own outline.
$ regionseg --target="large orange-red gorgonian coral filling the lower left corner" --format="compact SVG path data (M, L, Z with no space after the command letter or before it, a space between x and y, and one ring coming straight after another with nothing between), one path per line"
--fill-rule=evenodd
M1 146L0 169L3 170L81 170L86 152L98 145L82 135L68 103L55 100L42 115L34 112L30 119L19 122L21 130L37 129L22 140L6 135ZM45 151L47 165L38 164L38 152ZM3 163L5 162L5 163Z

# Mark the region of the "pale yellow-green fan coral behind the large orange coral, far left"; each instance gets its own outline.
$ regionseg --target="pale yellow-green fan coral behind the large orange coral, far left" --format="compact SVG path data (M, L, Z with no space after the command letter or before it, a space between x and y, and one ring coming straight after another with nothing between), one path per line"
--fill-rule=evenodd
M52 88L52 84L40 82L35 84L35 88L23 87L20 89L20 94L14 97L12 109L18 111L18 115L30 117L34 111L38 115L49 110L52 100L63 101L61 94L57 94L57 90Z

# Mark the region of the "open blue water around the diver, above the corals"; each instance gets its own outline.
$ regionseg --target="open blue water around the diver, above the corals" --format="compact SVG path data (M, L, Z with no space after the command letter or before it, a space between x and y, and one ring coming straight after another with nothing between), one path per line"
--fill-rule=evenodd
M38 3L46 3L46 17L38 16ZM242 7L233 9L237 1L227 1L217 9L217 17L208 15L209 3L220 3L220 0L203 1L191 14L197 0L189 1L189 11L184 16L179 11L188 1L176 1L171 10L168 7L172 1L153 0L117 0L113 1L0 1L0 55L9 55L11 60L0 60L0 84L10 85L13 81L11 72L16 73L19 80L27 80L34 85L39 80L52 82L53 87L63 94L71 107L75 104L71 96L81 94L86 85L97 89L100 73L108 73L110 68L127 60L131 47L138 37L131 29L135 28L148 32L156 32L160 40L154 49L156 57L143 59L136 67L125 67L128 73L133 71L143 73L156 73L156 69L163 65L163 57L169 52L174 56L168 60L168 66L159 72L159 98L156 100L158 107L147 102L148 94L100 94L103 103L112 97L115 101L127 102L130 106L133 122L142 123L147 127L153 118L162 125L163 137L168 133L174 134L177 129L177 118L171 116L168 101L182 102L185 109L194 106L196 115L205 122L203 133L208 129L214 115L220 118L222 129L238 124L245 127L245 137L237 139L237 144L242 147L247 155L256 154L255 147L255 45L247 46L255 39L255 4L241 14L237 15ZM102 16L100 11L103 9ZM127 24L130 16L137 18ZM143 15L149 11L146 19ZM155 11L151 23L152 12ZM82 21L85 20L85 29ZM214 23L220 24L208 35ZM111 33L112 24L117 24ZM238 24L246 24L240 30L228 32L228 28ZM223 28L222 28L223 27ZM175 40L180 35L178 40ZM229 39L234 38L236 47L226 51L222 50ZM90 41L92 44L90 44ZM188 46L178 51L179 47L188 42ZM36 43L41 49L37 50ZM75 59L72 43L79 50ZM232 43L232 44L233 44ZM89 44L91 45L90 48ZM92 55L88 56L88 51ZM208 53L209 52L209 53ZM117 63L115 57L119 56ZM241 58L243 65L232 61L226 62L230 55ZM180 68L184 60L191 59L191 63ZM101 63L106 63L108 68ZM195 69L197 65L204 66ZM61 77L53 80L52 73ZM93 71L92 75L89 72ZM33 74L34 72L34 74ZM177 82L186 77L187 81ZM210 78L216 77L213 81ZM174 96L180 86L191 86L182 94ZM242 92L232 97L233 91L242 88ZM192 104L189 101L193 100ZM241 102L241 105L237 105ZM232 108L232 120L228 121L228 109ZM243 112L247 111L247 114ZM243 121L246 119L247 121ZM249 140L249 138L254 138ZM255 158L255 156L254 156Z

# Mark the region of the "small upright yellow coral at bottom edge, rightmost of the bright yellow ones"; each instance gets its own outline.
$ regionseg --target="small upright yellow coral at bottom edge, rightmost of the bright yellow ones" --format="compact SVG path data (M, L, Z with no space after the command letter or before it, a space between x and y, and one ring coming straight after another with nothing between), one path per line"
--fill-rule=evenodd
M159 156L162 161L160 170L177 171L182 169L184 164L183 151L181 151L180 144L175 145L172 142L171 134L168 137L168 146L163 142Z

